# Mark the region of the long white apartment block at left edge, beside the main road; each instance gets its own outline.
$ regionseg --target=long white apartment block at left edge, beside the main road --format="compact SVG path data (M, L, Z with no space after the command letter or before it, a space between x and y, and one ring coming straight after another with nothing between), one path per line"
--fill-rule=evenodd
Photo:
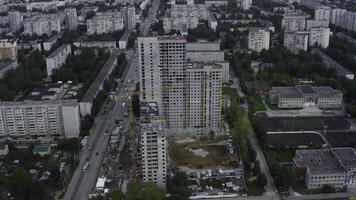
M76 100L0 102L0 137L78 137Z

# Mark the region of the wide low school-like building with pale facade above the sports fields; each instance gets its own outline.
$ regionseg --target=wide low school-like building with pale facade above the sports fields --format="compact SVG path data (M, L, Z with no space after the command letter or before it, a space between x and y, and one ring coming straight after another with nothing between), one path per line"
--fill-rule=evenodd
M343 94L331 87L297 85L295 87L272 87L269 100L278 108L303 108L316 106L320 109L341 109Z

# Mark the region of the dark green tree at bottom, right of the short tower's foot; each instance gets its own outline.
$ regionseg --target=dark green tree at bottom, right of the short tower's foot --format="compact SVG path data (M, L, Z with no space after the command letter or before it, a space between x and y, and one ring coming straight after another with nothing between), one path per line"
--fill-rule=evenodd
M191 191L188 188L188 177L182 172L178 171L168 183L168 192L170 193L170 200L185 200L189 199Z

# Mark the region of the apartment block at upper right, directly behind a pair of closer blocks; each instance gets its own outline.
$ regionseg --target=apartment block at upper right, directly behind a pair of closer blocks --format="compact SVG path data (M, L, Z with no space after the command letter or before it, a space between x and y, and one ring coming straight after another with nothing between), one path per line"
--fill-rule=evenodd
M282 29L286 32L304 31L306 16L285 15L282 19Z

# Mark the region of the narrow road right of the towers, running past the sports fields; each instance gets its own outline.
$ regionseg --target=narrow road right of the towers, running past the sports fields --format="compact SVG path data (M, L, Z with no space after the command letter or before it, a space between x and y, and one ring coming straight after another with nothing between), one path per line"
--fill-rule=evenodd
M232 80L233 80L233 83L234 83L237 93L243 94L243 92L240 88L240 85L238 83L238 79L235 77L235 74L233 73L232 70L231 70L230 76L232 77ZM247 101L245 101L242 106L246 108L246 111L248 111ZM248 117L247 116L248 112L245 112L245 114L246 114L246 117ZM273 183L273 178L272 178L271 172L268 168L265 156L263 154L261 146L258 144L256 133L253 130L253 128L251 127L251 124L249 124L248 140L250 141L252 148L256 151L256 154L257 154L256 159L260 163L261 172L264 173L267 177L266 192L263 194L262 199L280 200L281 198L280 198L278 192L276 192L276 187ZM260 198L259 197L251 197L250 199L260 199Z

